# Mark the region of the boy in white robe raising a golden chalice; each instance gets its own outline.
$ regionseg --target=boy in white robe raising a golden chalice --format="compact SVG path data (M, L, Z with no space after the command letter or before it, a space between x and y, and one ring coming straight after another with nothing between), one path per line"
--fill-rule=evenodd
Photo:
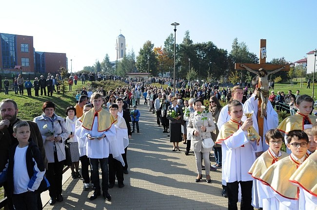
M228 104L230 121L221 126L216 143L221 144L222 149L222 179L227 183L228 209L237 210L238 189L241 187L241 209L252 209L252 183L253 178L248 171L254 163L257 145L260 137L247 138L247 130L252 126L252 118L244 123L242 105L233 100Z

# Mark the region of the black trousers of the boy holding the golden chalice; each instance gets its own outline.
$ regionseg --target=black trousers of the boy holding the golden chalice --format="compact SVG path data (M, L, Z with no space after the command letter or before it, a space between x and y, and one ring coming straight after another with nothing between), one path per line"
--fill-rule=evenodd
M238 192L241 186L241 210L253 210L252 203L252 181L227 182L228 210L238 210Z

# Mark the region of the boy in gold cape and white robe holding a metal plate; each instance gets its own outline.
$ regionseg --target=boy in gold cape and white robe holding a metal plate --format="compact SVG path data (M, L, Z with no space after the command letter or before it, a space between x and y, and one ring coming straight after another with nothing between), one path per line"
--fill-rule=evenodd
M105 200L110 201L111 195L108 193L109 147L111 147L113 157L123 162L116 142L116 128L114 125L116 120L108 111L101 107L103 100L99 93L95 92L91 96L91 99L94 108L79 118L81 126L76 129L75 133L80 139L79 147L82 143L85 144L86 154L90 159L90 164L93 169L92 177L95 191L89 199L94 200L101 194L99 182L100 163L102 172L102 194ZM124 162L122 164L124 165Z

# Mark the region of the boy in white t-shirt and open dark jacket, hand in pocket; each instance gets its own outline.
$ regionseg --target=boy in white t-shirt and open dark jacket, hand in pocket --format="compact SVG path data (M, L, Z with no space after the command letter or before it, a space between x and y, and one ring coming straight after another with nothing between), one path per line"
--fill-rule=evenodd
M30 127L25 121L13 126L13 136L19 144L9 151L6 168L0 173L0 183L7 181L7 196L12 197L16 210L38 210L39 189L45 166L39 148L29 141ZM47 180L45 188L49 186ZM40 191L40 192L39 192Z

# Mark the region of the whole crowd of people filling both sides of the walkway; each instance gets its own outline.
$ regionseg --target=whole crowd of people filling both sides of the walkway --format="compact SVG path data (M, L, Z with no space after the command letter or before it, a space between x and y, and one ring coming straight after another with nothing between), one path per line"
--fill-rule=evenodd
M57 77L48 76L59 81ZM41 79L44 80L42 76ZM102 87L94 91L84 87L76 96L77 103L74 100L74 106L65 108L65 118L55 113L53 102L47 101L42 105L42 114L33 122L17 118L19 109L15 101L2 100L0 182L7 192L10 208L42 209L40 193L47 188L50 205L62 202L62 170L68 152L72 178L82 177L83 190L94 189L89 199L96 199L102 192L103 198L110 201L108 190L115 186L116 177L118 187L123 188L124 174L129 173L129 139L135 127L137 133L142 129L137 108L141 98L169 137L171 151L181 151L179 143L183 141L184 154L188 156L190 151L195 154L195 182L203 179L205 170L205 181L211 183L211 171L222 169L222 196L228 197L229 210L238 209L239 191L241 209L316 207L316 179L310 175L316 174L317 168L317 153L314 153L317 117L311 115L314 100L310 96L299 95L299 91L293 96L289 91L289 103L293 98L296 109L294 115L281 123L274 109L276 104L268 103L263 135L259 136L257 78L252 82L251 92L248 86L220 88L216 84L199 85L194 81L186 84L178 80L178 88L174 90L148 82L133 79L126 86L108 92ZM39 87L41 95L43 91L45 94L45 88ZM49 90L52 93L54 89ZM21 91L23 94L23 87ZM220 101L228 104L222 107ZM254 114L247 118L243 113L250 110ZM251 127L253 133L249 135ZM281 151L283 142L286 153Z

